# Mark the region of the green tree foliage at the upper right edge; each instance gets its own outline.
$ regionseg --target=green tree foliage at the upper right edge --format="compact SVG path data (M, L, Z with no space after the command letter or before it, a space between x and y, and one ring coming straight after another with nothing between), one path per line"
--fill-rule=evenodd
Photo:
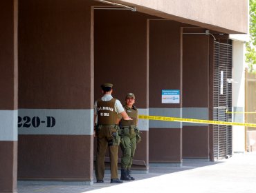
M246 63L249 72L255 72L256 67L256 0L250 0L250 41L246 43Z

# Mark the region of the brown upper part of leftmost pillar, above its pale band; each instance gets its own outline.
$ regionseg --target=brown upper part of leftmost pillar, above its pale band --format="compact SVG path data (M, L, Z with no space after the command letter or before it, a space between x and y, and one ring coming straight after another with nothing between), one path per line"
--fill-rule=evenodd
M17 1L1 1L0 109L17 109Z

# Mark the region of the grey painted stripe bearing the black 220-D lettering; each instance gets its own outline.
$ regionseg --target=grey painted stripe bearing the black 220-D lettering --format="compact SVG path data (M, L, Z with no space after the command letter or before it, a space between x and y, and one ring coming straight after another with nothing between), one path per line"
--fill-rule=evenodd
M18 128L19 134L93 134L93 110L19 109L18 115L22 119L18 120L21 124ZM35 127L36 116L40 119L38 127ZM49 119L47 116L54 117L53 127L47 127L47 119Z

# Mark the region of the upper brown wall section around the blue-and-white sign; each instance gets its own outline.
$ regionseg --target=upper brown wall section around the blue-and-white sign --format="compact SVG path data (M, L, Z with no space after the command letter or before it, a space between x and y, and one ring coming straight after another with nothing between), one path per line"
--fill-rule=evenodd
M149 108L181 108L161 103L162 89L181 89L181 23L149 22Z

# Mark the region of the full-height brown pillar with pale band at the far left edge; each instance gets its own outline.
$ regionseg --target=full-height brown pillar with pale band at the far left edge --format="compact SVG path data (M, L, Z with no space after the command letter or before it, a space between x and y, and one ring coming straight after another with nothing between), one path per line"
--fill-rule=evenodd
M0 2L0 192L17 192L17 3Z

